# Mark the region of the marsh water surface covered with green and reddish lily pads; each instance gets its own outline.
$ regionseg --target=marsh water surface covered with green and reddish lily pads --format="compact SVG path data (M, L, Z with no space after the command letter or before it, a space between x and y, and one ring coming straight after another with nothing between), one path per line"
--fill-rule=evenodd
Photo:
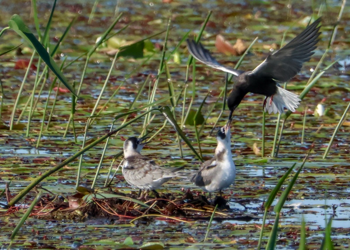
M34 22L30 16L29 1L15 1L16 4L1 3L1 27L5 27L12 14L19 14L34 32ZM294 77L287 88L300 93L304 88L312 70L320 60L328 45L332 25L335 23L340 2L328 2L324 10L323 28L321 40L310 62L305 63L302 71ZM45 24L51 5L38 2L39 18ZM50 30L50 39L54 44L56 37L62 35L68 23L78 15L77 22L73 25L69 35L62 43L59 52L61 60L67 56L71 61L85 51L89 50L97 37L100 36L115 18L116 2L99 1L96 13L90 25L87 24L93 2L85 1L58 1L54 23ZM348 6L345 6L349 10ZM265 2L253 1L250 4L245 1L237 1L231 4L226 1L186 1L170 4L151 1L120 1L117 10L124 12L123 18L116 25L120 29L127 24L130 26L118 35L118 39L133 41L147 37L166 29L168 19L174 26L169 33L168 51L172 51L182 37L190 32L190 37L198 34L208 11L213 11L210 23L203 33L202 41L206 47L214 51L219 61L234 67L239 57L226 56L217 53L214 48L215 36L223 34L226 39L234 43L237 38L243 39L249 44L256 36L259 40L254 44L251 52L245 57L241 69L250 70L258 65L269 52L273 43L280 44L283 32L290 26L292 29L287 33L286 41L298 34L307 25L312 7L308 2L295 2L284 4L278 1ZM316 6L315 12L318 11ZM344 11L336 42L327 55L324 65L330 64L335 59L344 59L349 55L349 11ZM43 28L42 28L43 29ZM164 34L152 39L155 53L147 63L142 65L136 72L126 79L112 103L107 106L105 113L128 108L133 101L139 86L151 74L151 82L154 82L161 58L161 47L164 42ZM14 32L6 32L0 37L0 51L5 51L21 43L20 38ZM22 47L26 47L23 45ZM8 125L13 102L18 94L19 85L24 76L24 70L14 70L15 62L19 59L29 59L30 53L17 56L14 53L0 57L1 79L3 84L3 107L1 122ZM150 55L148 53L147 55ZM171 58L169 68L176 91L180 92L184 85L188 51L185 44L181 44L178 54L180 60ZM167 56L166 56L167 57ZM232 59L233 58L233 59ZM109 87L104 93L102 104L108 100L114 90L124 81L127 74L142 64L145 58L130 59L118 58L113 70ZM233 62L231 62L233 60ZM84 66L84 60L79 60L68 67L64 74L69 82L79 82L80 74ZM89 63L89 69L80 94L81 100L75 113L75 127L77 143L74 141L72 130L66 138L63 138L65 126L70 114L71 98L67 93L61 93L55 108L55 116L51 121L48 131L44 131L40 146L35 148L38 131L40 130L43 107L48 95L48 86L52 78L48 80L41 102L35 111L31 123L30 136L25 136L23 127L27 124L26 114L23 116L19 130L1 130L0 137L0 189L5 188L5 183L13 178L9 189L12 197L26 187L38 174L44 172L55 164L68 158L81 148L87 117L90 115L96 98L102 88L104 79L111 65L111 58L102 50L95 53ZM191 70L190 70L191 71ZM211 106L216 102L219 93L224 86L224 74L210 68L196 64L196 98L193 104L197 109L208 91L210 92L202 113L208 115ZM35 72L30 73L28 82L22 92L19 116L23 105L26 103L35 78ZM52 77L52 76L51 76ZM156 98L168 96L168 86L165 74L162 75ZM191 85L191 83L189 83ZM146 85L147 86L147 85ZM230 88L230 86L229 86ZM188 88L186 107L190 102L191 87ZM207 231L209 217L192 221L191 223L169 222L151 220L139 222L135 227L127 220L113 220L110 218L90 218L85 222L72 221L46 221L30 217L22 227L16 238L15 248L27 248L30 245L41 248L78 248L86 246L95 249L106 247L117 249L125 248L124 240L130 236L133 239L132 248L139 248L145 242L161 242L167 249L255 249L259 238L263 210L262 203L267 199L271 189L279 178L294 163L299 166L308 150L313 147L309 160L299 175L289 200L285 203L281 215L281 227L276 249L297 248L302 215L305 218L307 230L307 242L310 249L318 249L324 232L324 219L334 216L332 222L332 239L336 249L347 249L350 243L350 163L349 163L349 122L344 123L339 130L334 145L327 159L322 156L330 136L338 123L345 107L350 101L349 96L349 72L338 67L329 69L318 81L314 88L302 101L299 109L293 113L286 122L283 140L280 146L278 158L271 158L275 124L277 115L266 116L266 158L262 159L253 152L253 144L261 147L261 122L262 122L262 97L249 95L235 111L232 122L232 153L237 166L237 177L234 185L225 191L231 210L220 211L224 215L214 217L214 222L209 232L209 240L202 242ZM145 88L139 99L138 105L147 104L148 87ZM54 96L50 96L51 99ZM316 105L326 98L324 105L330 108L328 116L315 117L313 111ZM182 99L181 99L182 100ZM167 103L169 105L169 103ZM50 104L51 105L51 104ZM222 101L219 101L215 109L210 113L207 124L201 132L201 148L204 159L209 159L215 147L215 137L209 136L209 132L221 110ZM182 101L176 111L181 113ZM301 132L304 110L307 107L306 129L304 143L301 143ZM228 112L223 114L219 125L225 124ZM89 128L87 139L96 139L109 131L114 115L104 116ZM122 120L121 120L122 121ZM156 115L149 127L160 127L163 117ZM320 129L320 126L323 125ZM103 169L100 173L96 188L104 185L104 181L113 156L123 146L125 138L138 135L141 132L143 120L134 123L113 136L109 141L109 150L106 152ZM197 149L195 130L193 126L183 127L187 137ZM179 148L175 141L176 136L173 128L167 125L164 130L148 144L144 154L158 159L158 163L170 166L185 166L186 173L196 169L200 161L186 145L182 145L184 158L180 158ZM84 154L82 185L90 186L99 163L104 144L99 144ZM119 164L119 161L116 161ZM70 195L75 193L75 180L77 174L78 159L61 169L42 183L42 186L54 194ZM132 188L126 185L121 172L112 183L112 187L118 192L130 193ZM190 183L179 180L169 181L161 192L183 193L182 188L190 188L200 191ZM196 192L194 192L196 195ZM30 192L24 204L30 203L35 196ZM6 198L0 198L1 203L6 203ZM6 247L9 235L19 217L25 209L18 213L5 215L1 210L0 242ZM274 212L271 211L267 218L268 229L264 234L265 239L274 220ZM46 236L44 236L46 235Z

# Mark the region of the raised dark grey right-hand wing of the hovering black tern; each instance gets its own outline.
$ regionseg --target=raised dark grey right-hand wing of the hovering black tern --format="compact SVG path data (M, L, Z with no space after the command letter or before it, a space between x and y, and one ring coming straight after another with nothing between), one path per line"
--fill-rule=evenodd
M314 54L312 51L316 49L317 38L320 35L320 21L321 18L318 18L286 46L268 55L250 74L268 76L281 82L295 76L301 70L302 64L309 61L310 56Z

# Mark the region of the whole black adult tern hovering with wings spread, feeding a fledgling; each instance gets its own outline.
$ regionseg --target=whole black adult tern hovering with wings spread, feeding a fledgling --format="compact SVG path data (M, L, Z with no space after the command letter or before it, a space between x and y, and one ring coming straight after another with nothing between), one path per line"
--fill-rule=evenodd
M320 21L321 18L318 18L284 47L268 55L258 67L246 72L221 65L201 43L187 40L189 52L198 61L237 76L232 92L227 98L230 110L228 124L231 123L233 111L248 92L266 96L263 107L269 114L283 113L285 107L292 112L295 111L300 98L282 89L278 82L288 81L301 70L304 62L310 60L320 35L321 26L318 26Z

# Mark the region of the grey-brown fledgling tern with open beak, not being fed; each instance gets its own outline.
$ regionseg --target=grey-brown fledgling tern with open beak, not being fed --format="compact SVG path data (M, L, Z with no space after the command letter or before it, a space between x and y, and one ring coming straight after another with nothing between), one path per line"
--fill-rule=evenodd
M172 171L161 168L154 160L141 155L142 148L148 143L142 143L146 138L130 137L124 142L124 163L122 172L127 183L139 189L152 190L159 198L155 189L173 177L183 168ZM143 195L141 195L142 197Z

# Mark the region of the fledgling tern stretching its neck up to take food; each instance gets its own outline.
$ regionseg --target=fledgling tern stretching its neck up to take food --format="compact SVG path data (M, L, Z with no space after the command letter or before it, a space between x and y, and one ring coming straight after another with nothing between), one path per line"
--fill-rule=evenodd
M236 166L231 154L230 125L223 126L216 134L215 155L202 163L200 169L190 177L190 181L204 191L219 191L228 188L236 178Z

